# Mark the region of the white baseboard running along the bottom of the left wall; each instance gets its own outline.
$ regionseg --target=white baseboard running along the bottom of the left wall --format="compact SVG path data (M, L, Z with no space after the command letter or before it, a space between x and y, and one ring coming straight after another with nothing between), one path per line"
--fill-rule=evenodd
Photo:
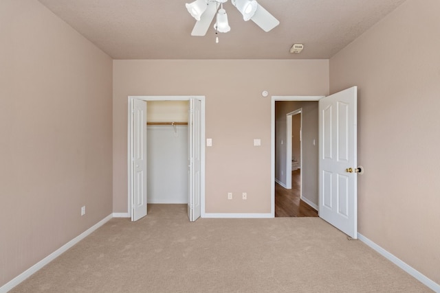
M60 256L62 253L65 253L69 248L83 240L85 237L90 235L92 232L94 232L97 228L108 222L111 218L113 218L113 215L107 215L104 219L100 220L97 224L94 224L94 226L91 226L89 229L81 233L80 235L76 236L74 239L70 240L57 250L55 250L50 255L47 255L44 259L39 261L38 263L35 263L34 266L28 268L28 270L25 270L21 274L19 274L17 277L9 281L8 283L5 283L5 285L1 286L0 293L8 292L9 290L12 290L15 286L19 285L19 283L25 281L25 279L28 279L32 274L43 268L43 266L47 265L47 263L50 263L56 257Z

